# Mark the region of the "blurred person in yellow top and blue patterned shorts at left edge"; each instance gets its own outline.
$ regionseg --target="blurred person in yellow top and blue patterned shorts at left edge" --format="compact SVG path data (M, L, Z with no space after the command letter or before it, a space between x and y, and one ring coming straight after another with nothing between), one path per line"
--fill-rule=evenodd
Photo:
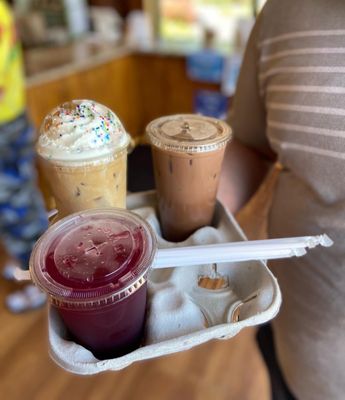
M47 228L43 200L36 186L34 130L25 105L22 54L11 10L0 0L0 236L9 255L3 276L27 269L31 249ZM27 285L6 298L21 312L44 304L45 295Z

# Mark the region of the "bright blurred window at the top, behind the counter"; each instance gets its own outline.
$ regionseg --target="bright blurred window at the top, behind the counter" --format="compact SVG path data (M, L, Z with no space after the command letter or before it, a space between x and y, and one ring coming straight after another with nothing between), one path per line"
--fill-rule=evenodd
M159 0L157 35L170 48L193 50L202 46L205 30L211 30L215 46L228 53L238 33L247 38L259 3L261 7L262 0Z

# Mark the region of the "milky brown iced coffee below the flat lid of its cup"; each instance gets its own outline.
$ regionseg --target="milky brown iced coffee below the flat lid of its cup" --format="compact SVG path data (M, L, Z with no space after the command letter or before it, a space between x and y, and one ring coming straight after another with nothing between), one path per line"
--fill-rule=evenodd
M225 147L180 153L152 146L162 235L179 242L213 218Z

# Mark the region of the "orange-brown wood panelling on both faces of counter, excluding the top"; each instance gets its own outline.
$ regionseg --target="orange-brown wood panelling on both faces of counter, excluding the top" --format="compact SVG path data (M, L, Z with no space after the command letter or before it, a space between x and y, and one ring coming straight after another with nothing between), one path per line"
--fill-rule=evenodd
M137 54L31 86L27 97L36 126L57 104L91 98L112 108L137 136L154 118L192 112L198 89L217 90L218 86L190 81L184 57Z

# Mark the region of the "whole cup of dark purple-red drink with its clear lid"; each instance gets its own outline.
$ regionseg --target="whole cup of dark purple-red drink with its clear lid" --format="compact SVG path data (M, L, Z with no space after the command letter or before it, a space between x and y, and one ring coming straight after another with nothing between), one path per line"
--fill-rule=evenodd
M139 216L88 210L51 226L30 259L70 336L99 359L140 346L155 235Z

